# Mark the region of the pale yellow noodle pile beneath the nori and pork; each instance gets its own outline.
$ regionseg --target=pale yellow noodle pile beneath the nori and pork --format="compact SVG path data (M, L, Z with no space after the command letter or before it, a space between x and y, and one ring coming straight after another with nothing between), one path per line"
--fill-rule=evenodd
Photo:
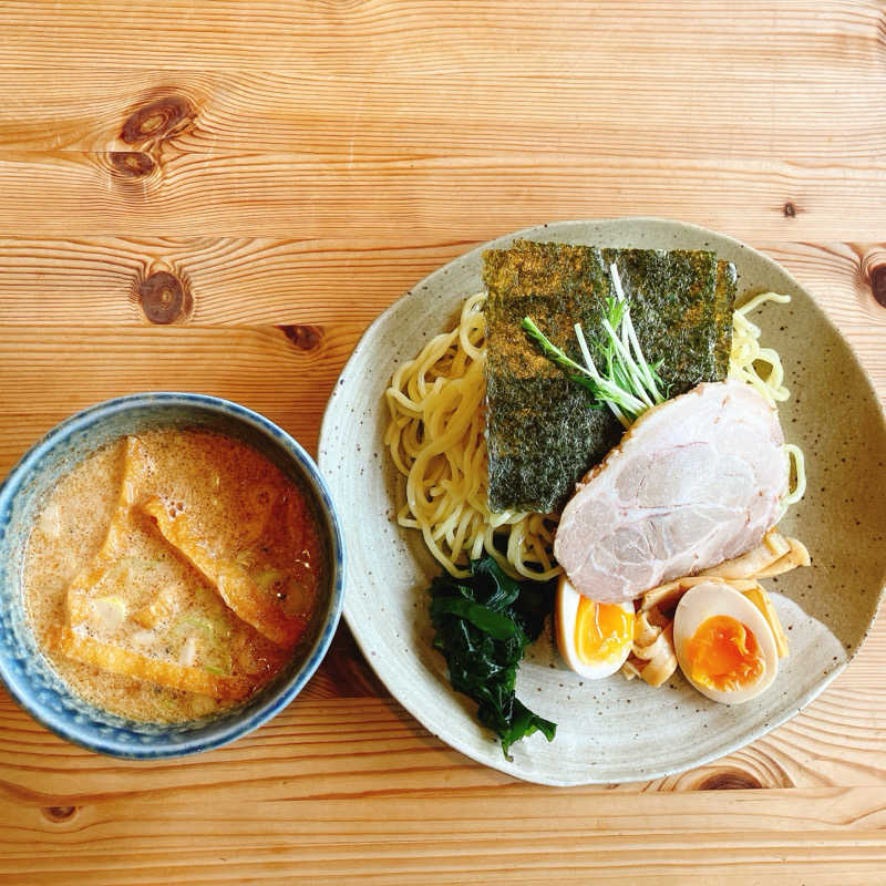
M385 391L384 443L406 477L396 521L421 529L433 556L456 578L466 577L467 559L485 550L512 577L542 581L562 571L552 553L557 516L488 507L485 299L485 292L470 297L455 329L435 336L403 363ZM730 378L752 384L772 406L789 396L781 358L760 347L760 328L746 315L766 301L790 300L764 292L733 313ZM761 375L763 364L769 371ZM803 452L793 444L784 450L795 481L782 513L805 490Z

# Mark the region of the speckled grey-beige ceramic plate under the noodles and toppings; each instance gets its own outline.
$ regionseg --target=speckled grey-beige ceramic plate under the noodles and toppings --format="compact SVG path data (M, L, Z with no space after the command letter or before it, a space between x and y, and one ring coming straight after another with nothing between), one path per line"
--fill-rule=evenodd
M708 701L677 674L661 689L619 674L583 680L567 670L549 631L521 667L517 694L558 723L507 761L453 692L431 648L424 588L439 571L419 533L391 519L402 484L387 456L383 392L394 369L429 336L451 328L478 291L483 250L516 237L600 246L710 248L735 264L740 299L773 289L793 296L754 321L777 348L792 390L781 408L801 444L808 491L782 522L814 565L765 584L791 642L774 686L738 707ZM323 420L320 466L338 502L348 548L344 617L375 672L433 734L486 765L544 784L652 779L699 765L756 739L800 711L846 666L869 630L886 577L886 424L848 344L813 298L774 261L734 239L661 219L565 222L474 249L432 274L369 328L336 385Z

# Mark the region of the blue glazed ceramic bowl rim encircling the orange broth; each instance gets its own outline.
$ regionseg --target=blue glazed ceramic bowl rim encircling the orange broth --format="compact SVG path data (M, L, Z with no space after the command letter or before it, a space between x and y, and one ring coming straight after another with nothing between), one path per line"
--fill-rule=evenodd
M185 406L197 411L214 412L241 422L261 433L279 449L286 452L299 466L301 475L311 486L322 513L318 516L324 525L324 535L328 536L330 547L329 569L329 610L322 629L309 649L303 664L289 680L281 684L274 693L248 717L234 719L224 727L203 734L195 730L182 741L168 743L166 733L151 735L150 741L141 744L123 742L113 735L96 736L93 732L94 720L85 727L73 721L66 712L58 712L41 704L33 693L27 691L30 682L27 677L19 678L10 673L6 657L0 656L0 681L2 681L12 699L25 710L34 720L54 732L62 739L81 748L95 751L110 756L128 760L158 760L164 758L186 756L202 751L208 751L228 744L236 739L249 734L264 723L276 717L286 708L305 688L313 676L320 662L326 657L332 637L341 618L344 601L346 555L344 536L341 521L332 501L329 486L320 468L305 450L305 447L288 432L265 418L255 410L212 394L200 394L179 391L145 391L104 400L86 406L50 429L40 440L31 445L19 461L10 468L6 478L0 483L0 516L11 509L18 492L27 483L32 470L40 461L62 440L72 433L91 427L96 423L122 412L138 411L146 408ZM126 718L124 718L126 719ZM212 729L213 721L208 720L206 727Z

